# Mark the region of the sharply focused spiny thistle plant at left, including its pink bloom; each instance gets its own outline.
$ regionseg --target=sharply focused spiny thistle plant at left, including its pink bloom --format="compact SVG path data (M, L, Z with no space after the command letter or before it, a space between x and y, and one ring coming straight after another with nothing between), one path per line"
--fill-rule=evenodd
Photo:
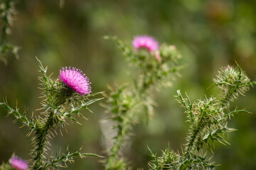
M46 74L47 67L43 67L40 60L38 63L42 74L39 79L43 85L40 115L36 118L28 118L26 113L21 114L17 107L11 108L6 99L0 103L9 115L14 115L15 121L21 121L23 126L29 129L28 136L33 135L31 152L33 159L30 168L43 170L53 167L58 169L60 166L67 166L68 162L73 162L74 157L100 157L97 154L82 153L80 150L70 152L68 148L63 154L56 152L54 157L48 156L50 139L54 137L53 132L57 134L56 130L65 128L68 119L78 123L75 115L84 117L80 111L82 109L90 111L88 106L102 98L94 98L101 92L91 94L90 81L80 69L64 67L60 69L60 76L54 80ZM21 162L18 159L13 160Z

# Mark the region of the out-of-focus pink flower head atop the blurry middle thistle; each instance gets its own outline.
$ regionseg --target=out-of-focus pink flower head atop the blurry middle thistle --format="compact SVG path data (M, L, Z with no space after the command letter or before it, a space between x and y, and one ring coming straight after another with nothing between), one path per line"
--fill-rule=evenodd
M132 41L132 45L136 49L140 49L142 47L149 50L149 52L159 50L159 44L154 38L147 36L147 35L141 35L134 38Z

